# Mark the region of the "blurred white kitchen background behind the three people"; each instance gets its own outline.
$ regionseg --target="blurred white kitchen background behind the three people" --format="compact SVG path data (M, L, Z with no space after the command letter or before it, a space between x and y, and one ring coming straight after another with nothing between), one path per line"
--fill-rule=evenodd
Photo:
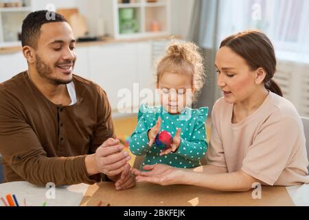
M139 90L155 87L155 62L171 36L203 48L207 83L197 105L211 107L221 96L214 69L218 45L249 28L270 36L278 59L275 79L299 113L309 116L308 0L1 0L0 82L27 68L21 23L29 12L46 9L71 24L80 41L75 73L106 90L116 118L126 115L119 114L119 89L133 94L133 83Z

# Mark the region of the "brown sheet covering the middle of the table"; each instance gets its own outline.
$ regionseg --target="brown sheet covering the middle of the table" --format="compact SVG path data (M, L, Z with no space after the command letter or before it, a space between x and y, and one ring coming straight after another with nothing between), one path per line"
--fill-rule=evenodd
M89 186L80 206L294 206L285 187L262 186L262 199L249 192L219 192L196 186L137 183L117 191L110 182Z

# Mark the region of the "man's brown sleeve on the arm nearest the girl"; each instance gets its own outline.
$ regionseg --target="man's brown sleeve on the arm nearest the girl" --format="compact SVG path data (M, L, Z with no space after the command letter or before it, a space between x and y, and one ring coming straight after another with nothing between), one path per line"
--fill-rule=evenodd
M106 92L103 89L98 87L97 91L99 93L97 102L98 123L93 129L89 154L95 153L97 148L108 140L108 138L116 138L111 104L108 102Z

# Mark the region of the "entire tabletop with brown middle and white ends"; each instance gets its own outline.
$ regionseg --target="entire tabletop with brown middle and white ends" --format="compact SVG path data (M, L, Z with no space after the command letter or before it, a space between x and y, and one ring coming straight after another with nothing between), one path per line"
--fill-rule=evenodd
M135 188L117 191L111 182L89 186L77 184L55 189L55 198L47 199L47 188L27 181L0 184L0 197L15 194L21 206L309 206L309 184L290 187L262 186L262 199L252 192L219 192L194 186L158 186L137 183ZM288 192L288 193L287 193ZM292 198L293 201L290 199ZM3 204L0 202L0 206Z

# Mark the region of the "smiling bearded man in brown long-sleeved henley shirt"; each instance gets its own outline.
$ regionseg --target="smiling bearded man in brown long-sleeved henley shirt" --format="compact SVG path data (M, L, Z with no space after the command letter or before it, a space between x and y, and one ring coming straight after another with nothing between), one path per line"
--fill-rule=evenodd
M76 40L60 14L23 21L28 70L0 85L0 153L5 182L56 186L101 180L133 187L124 146L115 140L111 106L95 83L73 75ZM18 64L17 64L18 65Z

